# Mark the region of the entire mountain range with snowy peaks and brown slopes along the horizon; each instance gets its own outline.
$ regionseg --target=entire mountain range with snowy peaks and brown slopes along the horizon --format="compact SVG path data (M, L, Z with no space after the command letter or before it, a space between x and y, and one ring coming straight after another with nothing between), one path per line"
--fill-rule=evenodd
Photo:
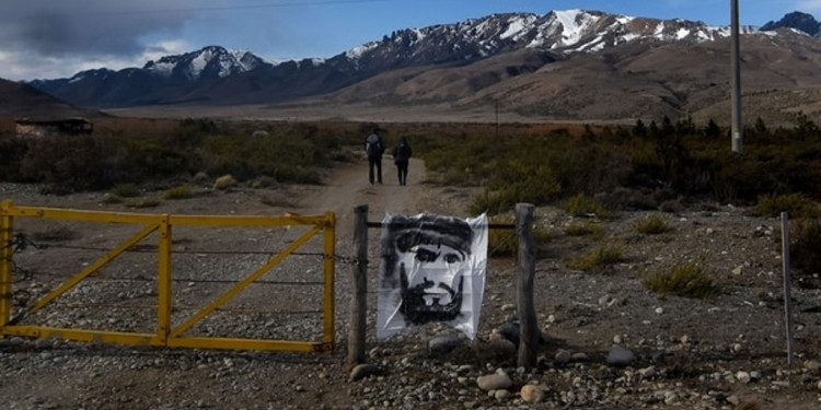
M821 113L821 38L795 12L742 27L748 118ZM82 107L368 104L504 107L525 118L729 121L730 30L598 11L494 14L405 28L328 59L269 62L219 46L30 85Z

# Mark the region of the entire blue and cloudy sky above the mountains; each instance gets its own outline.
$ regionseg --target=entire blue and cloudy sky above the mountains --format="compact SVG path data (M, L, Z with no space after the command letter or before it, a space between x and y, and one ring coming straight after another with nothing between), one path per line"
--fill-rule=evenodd
M731 0L8 0L0 13L0 78L70 78L142 67L209 45L276 61L328 58L404 28L494 13L599 10L730 24ZM761 26L793 11L821 16L821 0L739 0Z

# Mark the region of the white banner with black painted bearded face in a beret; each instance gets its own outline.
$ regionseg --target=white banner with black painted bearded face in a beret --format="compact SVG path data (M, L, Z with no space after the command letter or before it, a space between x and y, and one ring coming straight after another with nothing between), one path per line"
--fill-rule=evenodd
M487 216L385 215L377 337L432 323L476 336L487 266Z

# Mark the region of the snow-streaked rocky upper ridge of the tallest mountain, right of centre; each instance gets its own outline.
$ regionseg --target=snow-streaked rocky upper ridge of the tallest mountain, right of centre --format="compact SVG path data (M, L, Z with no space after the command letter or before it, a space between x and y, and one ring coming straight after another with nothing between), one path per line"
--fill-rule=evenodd
M744 27L745 33L754 27ZM408 28L384 36L345 56L351 60L391 57L395 63L473 60L519 48L565 55L594 52L631 42L699 43L728 37L728 27L685 20L664 21L598 11L494 14L456 24Z

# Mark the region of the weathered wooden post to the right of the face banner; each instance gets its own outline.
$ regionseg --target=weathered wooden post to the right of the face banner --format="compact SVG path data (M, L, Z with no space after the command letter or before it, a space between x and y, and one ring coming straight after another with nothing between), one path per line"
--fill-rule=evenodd
M533 243L533 206L516 204L516 232L519 239L519 280L516 309L519 314L519 355L517 365L533 368L539 350L539 325L533 306L533 277L535 276L535 244Z

